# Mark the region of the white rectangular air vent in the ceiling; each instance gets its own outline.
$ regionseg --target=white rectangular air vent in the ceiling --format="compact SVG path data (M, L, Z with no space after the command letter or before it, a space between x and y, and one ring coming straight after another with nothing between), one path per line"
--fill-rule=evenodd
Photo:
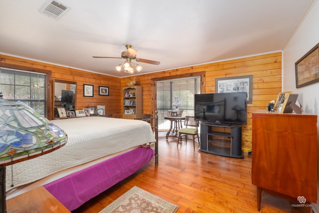
M71 9L70 7L63 5L62 3L56 0L48 0L41 7L40 12L44 15L47 15L51 18L58 20L70 9Z

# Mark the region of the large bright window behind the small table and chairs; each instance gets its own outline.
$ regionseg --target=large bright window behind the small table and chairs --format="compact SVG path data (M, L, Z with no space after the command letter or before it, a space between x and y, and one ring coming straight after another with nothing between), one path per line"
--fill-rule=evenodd
M200 77L170 79L157 82L157 109L159 130L169 129L169 121L164 120L167 110L172 109L175 97L179 99L182 116L194 116L194 94L200 93Z

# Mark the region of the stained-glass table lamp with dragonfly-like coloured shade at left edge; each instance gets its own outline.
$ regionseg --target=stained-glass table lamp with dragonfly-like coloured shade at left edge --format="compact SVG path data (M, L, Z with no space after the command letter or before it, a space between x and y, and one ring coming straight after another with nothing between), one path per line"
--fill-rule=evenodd
M6 213L5 166L53 152L67 135L25 104L3 100L0 91L0 212Z

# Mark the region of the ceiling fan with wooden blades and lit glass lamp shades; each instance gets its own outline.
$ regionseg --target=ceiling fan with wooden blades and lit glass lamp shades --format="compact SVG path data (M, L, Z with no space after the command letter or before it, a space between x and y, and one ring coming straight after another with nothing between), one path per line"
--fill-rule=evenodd
M124 71L128 72L130 74L134 73L134 68L133 67L135 67L138 72L140 72L143 69L142 66L140 66L139 64L133 63L132 60L135 60L137 62L142 62L142 63L155 64L155 65L159 65L160 64L160 61L153 61L153 60L149 60L149 59L136 57L136 53L138 52L138 50L133 49L131 44L126 44L125 47L127 48L127 50L122 52L121 57L104 57L104 56L92 56L92 57L93 58L126 59L126 61L124 63L117 65L115 68L119 72L122 70L122 68L124 68Z

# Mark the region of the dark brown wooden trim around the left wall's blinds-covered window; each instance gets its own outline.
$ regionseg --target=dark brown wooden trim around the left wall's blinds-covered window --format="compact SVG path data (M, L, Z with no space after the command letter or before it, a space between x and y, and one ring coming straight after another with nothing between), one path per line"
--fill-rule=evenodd
M33 68L33 67L27 67L27 66L21 66L21 65L15 65L15 64L8 64L4 63L0 60L0 67L4 68L10 68L10 69L17 69L17 70L24 70L29 72L39 72L39 73L45 73L45 93L46 93L46 115L44 115L48 120L52 120L53 114L52 114L52 84L51 84L51 78L52 78L52 72L51 70L46 69L39 69L39 68Z

